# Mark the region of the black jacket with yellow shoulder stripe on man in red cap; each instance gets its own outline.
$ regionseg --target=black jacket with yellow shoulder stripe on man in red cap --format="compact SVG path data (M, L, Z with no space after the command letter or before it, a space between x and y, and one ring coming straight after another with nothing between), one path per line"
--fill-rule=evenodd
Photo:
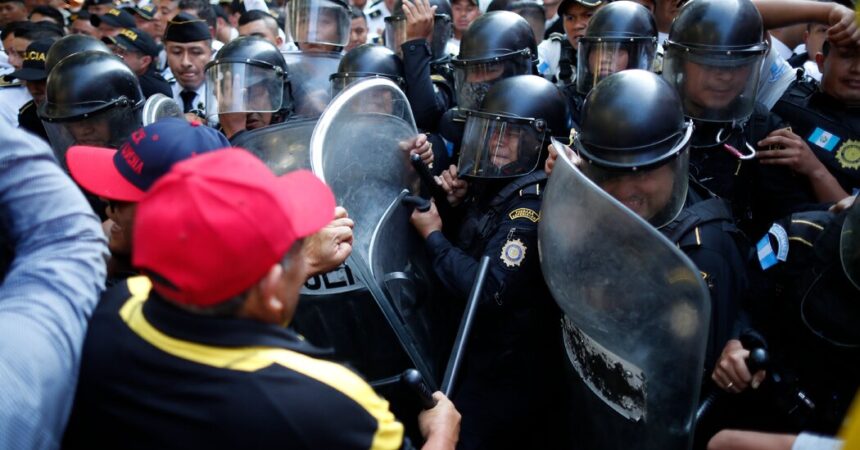
M399 448L403 427L355 373L297 334L188 313L129 279L84 343L68 448Z

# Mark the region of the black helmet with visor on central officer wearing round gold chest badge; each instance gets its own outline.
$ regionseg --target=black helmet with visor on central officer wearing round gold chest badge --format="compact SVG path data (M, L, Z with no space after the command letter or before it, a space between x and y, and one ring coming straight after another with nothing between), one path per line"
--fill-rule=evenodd
M509 178L534 171L551 136L567 137L570 110L564 94L535 75L494 84L479 110L466 110L460 176Z

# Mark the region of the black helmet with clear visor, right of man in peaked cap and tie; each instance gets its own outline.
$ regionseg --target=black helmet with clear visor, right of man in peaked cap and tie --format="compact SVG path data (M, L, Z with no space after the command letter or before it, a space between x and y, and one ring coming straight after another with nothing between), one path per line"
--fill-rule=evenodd
M206 64L206 117L277 112L290 105L287 63L269 41L236 38Z

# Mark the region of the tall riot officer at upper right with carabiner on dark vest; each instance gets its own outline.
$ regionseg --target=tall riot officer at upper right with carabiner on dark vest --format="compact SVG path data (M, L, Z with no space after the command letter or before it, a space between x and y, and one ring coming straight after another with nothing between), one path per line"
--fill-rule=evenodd
M672 23L663 61L663 77L696 123L690 172L732 202L741 228L751 235L816 200L788 168L754 159L759 142L782 125L756 102L767 51L762 31L750 0L690 2Z

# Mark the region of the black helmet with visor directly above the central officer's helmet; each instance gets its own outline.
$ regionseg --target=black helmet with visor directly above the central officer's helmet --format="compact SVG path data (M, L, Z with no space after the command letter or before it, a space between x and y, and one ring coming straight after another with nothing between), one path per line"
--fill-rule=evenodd
M457 105L477 110L493 83L533 72L537 44L529 23L510 11L486 13L463 33L451 60Z

